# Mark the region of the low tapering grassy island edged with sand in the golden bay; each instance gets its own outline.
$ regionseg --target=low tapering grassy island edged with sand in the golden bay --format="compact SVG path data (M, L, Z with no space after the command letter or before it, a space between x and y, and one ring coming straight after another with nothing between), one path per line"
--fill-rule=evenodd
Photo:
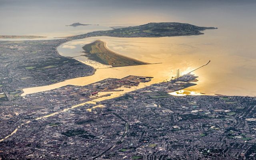
M108 50L104 42L101 40L96 40L95 42L86 44L83 49L86 53L85 56L90 60L94 60L106 65L111 65L113 67L148 64Z

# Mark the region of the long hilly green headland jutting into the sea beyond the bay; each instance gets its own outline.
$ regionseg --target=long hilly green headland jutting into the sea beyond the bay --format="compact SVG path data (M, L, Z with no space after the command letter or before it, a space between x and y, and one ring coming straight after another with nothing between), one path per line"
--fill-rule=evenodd
M113 30L96 31L67 38L80 39L92 36L110 37L166 37L166 36L191 36L204 34L200 31L217 29L215 27L199 27L188 23L162 22L148 23L140 26L116 28Z

